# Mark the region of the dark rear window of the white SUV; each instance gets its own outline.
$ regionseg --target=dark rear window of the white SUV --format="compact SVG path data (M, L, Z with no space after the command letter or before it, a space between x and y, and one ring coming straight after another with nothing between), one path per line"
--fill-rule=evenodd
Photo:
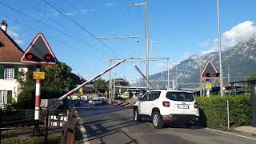
M167 92L166 98L172 101L192 102L194 101L193 94L186 92Z

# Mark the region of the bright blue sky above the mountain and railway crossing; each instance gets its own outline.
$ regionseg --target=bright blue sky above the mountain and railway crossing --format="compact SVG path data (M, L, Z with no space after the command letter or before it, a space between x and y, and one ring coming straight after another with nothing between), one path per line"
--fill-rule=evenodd
M130 6L135 2L144 1L3 0L0 20L6 19L8 33L23 50L38 32L42 32L59 61L66 62L75 72L90 78L109 65L104 60L106 58L145 57L144 38L99 42L91 35L145 35L145 8ZM256 1L220 2L222 47L227 50L256 32ZM177 64L192 54L217 50L217 0L149 0L148 3L150 41L155 41L153 49L150 48L151 57L170 58L171 64ZM134 63L145 71L144 62ZM139 78L132 64L126 62L116 68L117 77ZM150 62L150 74L162 70L166 70L165 61Z

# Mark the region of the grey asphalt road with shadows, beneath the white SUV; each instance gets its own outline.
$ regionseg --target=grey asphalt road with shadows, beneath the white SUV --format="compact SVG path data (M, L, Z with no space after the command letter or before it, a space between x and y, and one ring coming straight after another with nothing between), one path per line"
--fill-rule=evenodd
M218 131L182 126L154 129L148 120L133 122L133 111L120 106L82 106L77 108L86 129L86 142L94 143L202 143L255 144L256 141ZM78 142L78 143L82 143Z

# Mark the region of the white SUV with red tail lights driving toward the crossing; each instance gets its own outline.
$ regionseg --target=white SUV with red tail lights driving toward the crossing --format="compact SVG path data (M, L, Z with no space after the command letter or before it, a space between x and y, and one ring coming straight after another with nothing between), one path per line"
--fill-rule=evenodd
M162 128L167 122L186 125L198 122L198 103L189 91L149 90L134 105L134 121L142 117L153 120L155 128Z

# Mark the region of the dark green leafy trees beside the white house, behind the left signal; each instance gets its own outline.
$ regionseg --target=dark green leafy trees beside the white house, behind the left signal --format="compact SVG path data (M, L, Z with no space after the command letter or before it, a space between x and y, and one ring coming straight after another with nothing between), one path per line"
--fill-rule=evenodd
M59 98L69 90L74 89L74 74L71 73L70 66L59 62L55 66L42 66L42 71L46 72L45 80L42 80L41 98ZM16 108L33 108L35 81L33 79L34 66L30 66L25 72L22 70L18 76L19 94L18 102L14 103ZM73 75L73 76L72 76Z

